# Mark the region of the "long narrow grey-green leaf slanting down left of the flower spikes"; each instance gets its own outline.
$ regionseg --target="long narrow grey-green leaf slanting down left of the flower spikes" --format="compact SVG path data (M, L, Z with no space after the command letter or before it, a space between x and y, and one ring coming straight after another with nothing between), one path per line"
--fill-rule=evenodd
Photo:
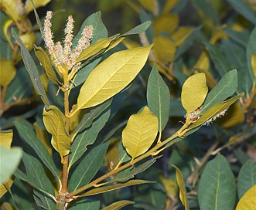
M39 78L39 72L36 67L36 63L33 61L32 57L29 54L29 51L26 49L26 46L24 46L22 40L19 38L14 29L12 29L12 36L16 39L17 42L19 42L22 52L22 59L24 65L26 66L27 71L29 72L29 76L36 93L42 98L43 103L49 105L49 100L46 96L46 91L43 89L43 84Z

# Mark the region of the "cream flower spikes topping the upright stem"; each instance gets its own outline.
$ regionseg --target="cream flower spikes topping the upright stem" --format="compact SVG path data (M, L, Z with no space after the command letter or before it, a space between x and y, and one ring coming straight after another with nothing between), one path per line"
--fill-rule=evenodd
M46 44L46 48L49 51L49 55L53 60L55 66L59 66L59 69L72 69L78 71L80 69L80 63L76 60L80 53L90 46L90 41L93 37L93 26L88 25L84 27L80 39L77 42L77 46L72 49L73 41L73 17L70 15L67 19L67 25L64 30L65 39L63 40L63 45L61 42L53 42L53 32L51 30L53 12L48 11L46 14L46 19L43 25L43 39ZM60 68L60 66L62 68ZM63 73L63 72L61 72Z

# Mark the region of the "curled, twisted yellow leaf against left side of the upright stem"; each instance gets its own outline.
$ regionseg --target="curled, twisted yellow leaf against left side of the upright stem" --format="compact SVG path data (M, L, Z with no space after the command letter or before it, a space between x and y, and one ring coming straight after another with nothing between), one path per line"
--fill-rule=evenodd
M63 156L70 153L70 137L65 130L65 116L55 106L49 106L49 110L43 110L43 123L46 130L52 134L52 145Z

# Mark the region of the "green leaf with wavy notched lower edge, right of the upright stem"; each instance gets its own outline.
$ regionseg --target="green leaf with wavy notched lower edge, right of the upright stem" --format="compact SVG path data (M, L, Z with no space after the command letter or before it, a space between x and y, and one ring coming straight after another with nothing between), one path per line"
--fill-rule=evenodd
M87 151L90 144L94 144L97 134L105 126L110 116L111 110L105 110L98 116L84 132L77 135L71 145L69 168Z

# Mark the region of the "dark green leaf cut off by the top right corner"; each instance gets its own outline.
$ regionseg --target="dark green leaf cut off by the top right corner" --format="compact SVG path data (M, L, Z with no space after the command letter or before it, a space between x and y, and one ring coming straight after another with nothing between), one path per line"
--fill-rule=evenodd
M239 14L243 15L245 19L255 24L256 12L246 2L242 0L227 0L230 5L233 6L234 10Z

